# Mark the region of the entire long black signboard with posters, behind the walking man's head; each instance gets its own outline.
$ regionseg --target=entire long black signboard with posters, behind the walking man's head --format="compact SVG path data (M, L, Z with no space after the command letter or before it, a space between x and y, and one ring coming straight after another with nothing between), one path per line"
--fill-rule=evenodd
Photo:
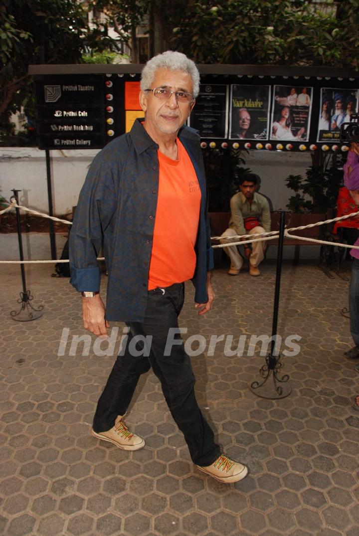
M340 126L358 110L357 73L350 77L341 70L331 74L329 69L325 75L324 69L305 67L199 67L200 93L189 124L199 131L203 147L346 150L347 144L338 144ZM31 66L40 148L102 148L128 132L134 120L144 116L138 100L140 71L138 65ZM252 140L258 143L246 143Z

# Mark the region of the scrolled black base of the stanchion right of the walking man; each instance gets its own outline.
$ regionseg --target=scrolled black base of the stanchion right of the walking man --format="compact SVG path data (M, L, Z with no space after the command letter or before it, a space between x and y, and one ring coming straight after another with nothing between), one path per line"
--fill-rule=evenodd
M271 366L271 368L270 363L271 365L274 365ZM259 374L264 380L261 383L256 381L249 385L252 393L255 393L258 397L270 398L271 400L286 398L291 393L291 386L290 383L288 383L288 374L283 375L281 378L278 376L278 371L281 367L282 362L280 356L274 358L273 356L268 355L266 357L266 363L259 371ZM273 382L268 381L271 376Z

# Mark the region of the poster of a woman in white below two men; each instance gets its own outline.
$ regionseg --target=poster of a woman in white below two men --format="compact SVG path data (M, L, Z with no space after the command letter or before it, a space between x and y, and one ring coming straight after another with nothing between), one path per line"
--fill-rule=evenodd
M312 87L274 86L271 139L308 142Z

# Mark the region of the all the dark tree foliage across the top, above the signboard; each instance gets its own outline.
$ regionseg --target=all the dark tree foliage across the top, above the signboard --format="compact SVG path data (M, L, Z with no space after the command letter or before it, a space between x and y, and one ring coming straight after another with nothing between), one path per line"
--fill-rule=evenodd
M89 10L107 18L89 27ZM136 52L138 26L147 28L150 54L159 51L160 34L163 49L198 63L359 68L359 0L2 0L2 122L32 101L29 64L92 61L83 54L118 51L123 43Z

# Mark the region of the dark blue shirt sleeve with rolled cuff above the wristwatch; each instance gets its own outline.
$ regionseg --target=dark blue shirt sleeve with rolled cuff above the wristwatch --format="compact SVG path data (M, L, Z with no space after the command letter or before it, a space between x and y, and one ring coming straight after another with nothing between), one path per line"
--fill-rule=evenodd
M70 283L79 292L96 292L100 289L97 257L103 232L114 210L115 192L110 158L108 154L99 153L81 189L70 232Z

